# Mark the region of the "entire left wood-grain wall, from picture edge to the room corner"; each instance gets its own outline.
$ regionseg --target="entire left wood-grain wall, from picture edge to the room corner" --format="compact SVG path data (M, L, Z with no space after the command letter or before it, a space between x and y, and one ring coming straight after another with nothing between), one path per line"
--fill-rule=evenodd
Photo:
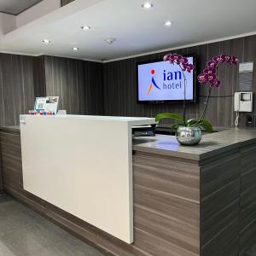
M0 53L0 125L18 125L36 96L60 96L71 114L103 114L102 64Z

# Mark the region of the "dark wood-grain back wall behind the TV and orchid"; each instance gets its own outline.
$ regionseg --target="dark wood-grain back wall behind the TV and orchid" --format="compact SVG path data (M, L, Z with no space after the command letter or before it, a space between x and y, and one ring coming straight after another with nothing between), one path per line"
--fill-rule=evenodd
M206 66L207 60L214 55L236 55L241 62L256 62L256 36L237 38L223 42L204 44L185 49L173 50L178 54L195 53L197 73ZM140 61L153 61L162 59L167 52L154 55L145 55L122 61L105 63L104 70L104 95L105 112L107 115L148 116L154 117L160 112L182 113L183 107L179 103L163 104L137 104L137 71L136 64ZM256 72L254 65L253 92L256 93ZM233 95L238 90L238 67L228 65L219 69L219 77L222 81L221 88L212 91L207 119L214 126L234 126ZM189 118L198 116L206 102L207 86L199 85L198 102L188 104ZM256 115L256 104L253 114ZM245 118L241 118L241 125L245 125Z

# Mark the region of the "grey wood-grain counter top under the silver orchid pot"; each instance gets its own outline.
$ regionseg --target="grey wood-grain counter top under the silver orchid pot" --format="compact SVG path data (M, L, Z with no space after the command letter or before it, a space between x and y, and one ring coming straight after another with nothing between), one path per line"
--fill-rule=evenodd
M206 134L197 146L181 146L176 137L156 135L156 137L137 137L133 139L133 150L155 154L202 160L229 149L256 142L256 130L230 129Z

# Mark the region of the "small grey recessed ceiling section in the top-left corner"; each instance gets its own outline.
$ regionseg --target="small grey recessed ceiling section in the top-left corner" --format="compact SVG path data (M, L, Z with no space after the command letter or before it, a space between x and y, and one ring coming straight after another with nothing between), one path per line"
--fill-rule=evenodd
M0 0L0 12L18 15L42 0Z

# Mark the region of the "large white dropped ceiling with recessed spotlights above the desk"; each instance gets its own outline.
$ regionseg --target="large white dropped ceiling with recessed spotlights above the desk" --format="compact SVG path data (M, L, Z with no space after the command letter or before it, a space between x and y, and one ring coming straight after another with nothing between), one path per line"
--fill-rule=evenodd
M84 2L91 4L86 6ZM0 49L108 61L256 33L255 0L151 0L153 9L143 9L142 3L143 0L76 0L10 32L0 42ZM69 12L75 5L79 10ZM172 20L173 25L164 26L166 20ZM91 29L83 31L82 25ZM116 41L106 44L104 38L108 37ZM51 43L43 44L44 38ZM74 46L80 50L73 52Z

